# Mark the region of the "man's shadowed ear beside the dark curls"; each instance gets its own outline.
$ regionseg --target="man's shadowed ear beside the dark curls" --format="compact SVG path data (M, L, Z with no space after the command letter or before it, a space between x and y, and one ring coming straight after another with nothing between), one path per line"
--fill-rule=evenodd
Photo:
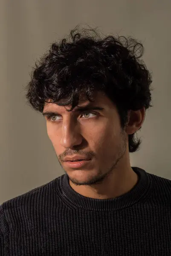
M139 109L137 111L128 111L128 122L126 125L126 133L133 134L141 128L142 123L145 119L145 108Z

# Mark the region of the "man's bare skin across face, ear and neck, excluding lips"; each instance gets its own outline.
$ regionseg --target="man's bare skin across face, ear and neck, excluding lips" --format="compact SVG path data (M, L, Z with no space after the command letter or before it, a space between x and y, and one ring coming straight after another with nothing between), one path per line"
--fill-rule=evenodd
M87 103L82 97L79 106ZM50 120L45 116L47 134L72 189L90 198L116 198L129 192L138 181L130 166L128 134L142 126L145 108L129 111L128 124L122 130L116 106L104 93L97 93L92 105L104 110L77 112L76 107L68 112L66 109L71 106L59 106L49 100L43 112L53 111L58 115ZM63 160L75 154L90 156L92 160L71 169Z

